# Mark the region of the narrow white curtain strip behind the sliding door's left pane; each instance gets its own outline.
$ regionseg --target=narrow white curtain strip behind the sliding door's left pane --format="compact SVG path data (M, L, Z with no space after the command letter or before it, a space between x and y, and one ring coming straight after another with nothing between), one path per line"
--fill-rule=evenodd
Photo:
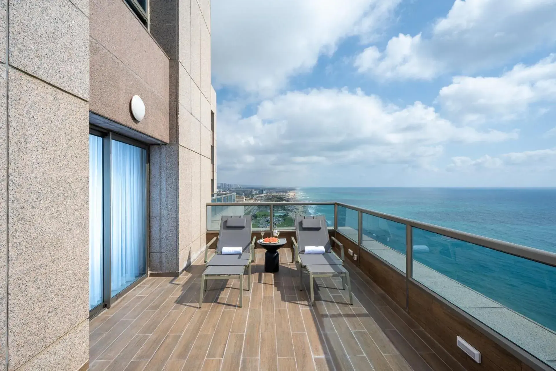
M89 135L89 309L102 303L102 138Z

